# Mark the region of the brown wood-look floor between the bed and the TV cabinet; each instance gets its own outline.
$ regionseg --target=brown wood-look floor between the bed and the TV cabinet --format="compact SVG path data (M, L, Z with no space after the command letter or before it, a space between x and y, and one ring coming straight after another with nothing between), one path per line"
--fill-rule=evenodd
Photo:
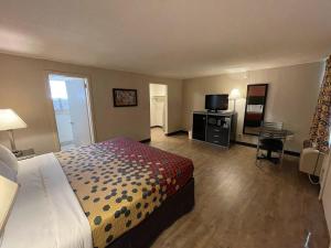
M328 248L319 187L298 171L298 158L282 166L255 165L255 149L216 148L186 136L152 129L151 145L193 160L195 207L162 233L152 248Z

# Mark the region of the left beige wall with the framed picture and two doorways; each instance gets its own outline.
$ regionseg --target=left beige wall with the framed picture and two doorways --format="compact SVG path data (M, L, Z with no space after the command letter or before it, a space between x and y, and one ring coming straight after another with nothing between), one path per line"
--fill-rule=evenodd
M38 153L56 150L56 129L46 87L50 72L89 79L96 141L116 136L150 138L150 82L168 85L169 132L182 127L181 80L0 54L0 108L14 109L29 126L14 132L19 149L34 148ZM111 90L116 87L138 89L138 107L114 108ZM0 132L0 143L9 147L6 132Z

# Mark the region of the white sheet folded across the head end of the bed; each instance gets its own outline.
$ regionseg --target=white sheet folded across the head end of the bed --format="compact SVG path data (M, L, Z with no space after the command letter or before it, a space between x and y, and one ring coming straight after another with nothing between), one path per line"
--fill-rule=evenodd
M92 248L88 220L54 154L19 163L18 198L1 248Z

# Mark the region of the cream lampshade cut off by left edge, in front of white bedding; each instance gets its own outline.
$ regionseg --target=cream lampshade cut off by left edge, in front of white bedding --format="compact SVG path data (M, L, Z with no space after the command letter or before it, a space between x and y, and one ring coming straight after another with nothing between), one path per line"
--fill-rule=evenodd
M19 185L0 175L0 246L7 219L14 204Z

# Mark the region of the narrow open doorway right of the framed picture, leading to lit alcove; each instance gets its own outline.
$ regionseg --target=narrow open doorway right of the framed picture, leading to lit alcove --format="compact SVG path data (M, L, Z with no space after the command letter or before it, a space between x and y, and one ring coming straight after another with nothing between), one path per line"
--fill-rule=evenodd
M168 133L168 87L149 84L151 140L162 139Z

